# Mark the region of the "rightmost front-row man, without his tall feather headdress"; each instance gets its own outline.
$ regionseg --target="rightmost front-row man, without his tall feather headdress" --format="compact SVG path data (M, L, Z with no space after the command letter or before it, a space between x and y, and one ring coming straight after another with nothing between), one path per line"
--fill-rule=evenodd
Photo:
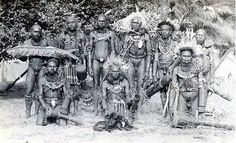
M204 113L204 87L202 72L193 60L190 47L180 49L180 63L174 68L170 89L169 111L198 115Z

